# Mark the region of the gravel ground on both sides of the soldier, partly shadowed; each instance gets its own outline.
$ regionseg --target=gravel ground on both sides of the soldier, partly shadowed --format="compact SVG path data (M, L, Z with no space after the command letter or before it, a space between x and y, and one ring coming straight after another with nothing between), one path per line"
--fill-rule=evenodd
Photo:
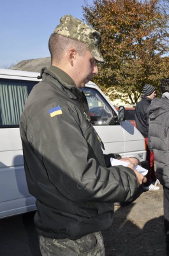
M106 256L163 256L163 188L138 189L131 204L115 204L114 223L103 234ZM34 212L0 221L0 256L40 256ZM68 255L69 256L69 255Z

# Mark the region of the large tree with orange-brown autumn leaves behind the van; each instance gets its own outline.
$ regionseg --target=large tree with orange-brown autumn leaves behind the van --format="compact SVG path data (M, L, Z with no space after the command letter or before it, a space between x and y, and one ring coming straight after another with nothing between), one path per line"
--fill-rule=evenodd
M136 104L143 85L158 87L162 78L163 54L169 50L167 13L161 12L158 0L94 0L82 8L102 38L105 63L94 83L105 88L110 99Z

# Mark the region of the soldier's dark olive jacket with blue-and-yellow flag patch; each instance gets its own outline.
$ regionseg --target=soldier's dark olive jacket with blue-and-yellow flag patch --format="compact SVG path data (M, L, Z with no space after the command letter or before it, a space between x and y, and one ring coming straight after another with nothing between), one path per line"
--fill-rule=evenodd
M42 73L20 120L34 223L40 236L78 239L112 225L114 202L133 197L136 176L105 166L84 93L71 77L53 66Z

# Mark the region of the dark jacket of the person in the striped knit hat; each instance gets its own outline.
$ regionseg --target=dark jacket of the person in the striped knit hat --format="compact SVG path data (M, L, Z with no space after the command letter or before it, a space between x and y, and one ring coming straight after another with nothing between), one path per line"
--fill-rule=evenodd
M148 137L149 116L147 115L147 111L150 104L151 99L144 96L142 100L136 104L135 108L136 128L142 133L144 138Z

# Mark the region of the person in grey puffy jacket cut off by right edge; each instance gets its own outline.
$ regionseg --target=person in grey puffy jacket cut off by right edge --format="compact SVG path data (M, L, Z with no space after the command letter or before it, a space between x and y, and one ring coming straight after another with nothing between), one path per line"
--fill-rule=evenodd
M156 172L163 186L166 255L169 255L169 79L161 82L160 99L149 107L149 148L154 151Z

